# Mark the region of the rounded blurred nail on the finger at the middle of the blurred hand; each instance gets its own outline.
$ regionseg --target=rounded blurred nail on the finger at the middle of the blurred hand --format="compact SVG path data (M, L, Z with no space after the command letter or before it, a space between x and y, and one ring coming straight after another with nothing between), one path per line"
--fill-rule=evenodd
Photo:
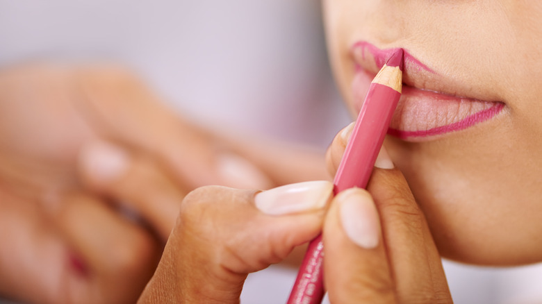
M125 151L104 142L84 146L80 158L85 173L99 182L119 178L129 165L129 156Z

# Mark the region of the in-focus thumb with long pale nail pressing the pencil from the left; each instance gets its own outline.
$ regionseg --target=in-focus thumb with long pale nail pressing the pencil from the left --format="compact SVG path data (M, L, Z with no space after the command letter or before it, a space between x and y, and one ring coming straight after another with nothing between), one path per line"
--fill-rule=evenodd
M238 303L248 273L281 262L320 233L332 189L328 181L257 194L196 189L181 205L140 303Z

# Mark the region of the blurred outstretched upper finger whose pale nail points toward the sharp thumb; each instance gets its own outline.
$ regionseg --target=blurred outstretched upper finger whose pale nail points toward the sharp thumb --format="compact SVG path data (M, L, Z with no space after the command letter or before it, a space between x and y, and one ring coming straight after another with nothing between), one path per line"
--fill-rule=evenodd
M210 134L183 121L129 71L86 69L78 80L85 112L104 135L156 155L188 189L203 185L265 189L270 185L250 162L222 155ZM236 169L231 170L232 166Z

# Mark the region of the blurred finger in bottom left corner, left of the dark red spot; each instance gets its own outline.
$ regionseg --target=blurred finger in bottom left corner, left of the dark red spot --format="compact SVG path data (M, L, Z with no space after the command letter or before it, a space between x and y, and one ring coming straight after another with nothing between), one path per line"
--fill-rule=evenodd
M21 303L58 303L63 239L39 205L5 189L0 189L0 294Z

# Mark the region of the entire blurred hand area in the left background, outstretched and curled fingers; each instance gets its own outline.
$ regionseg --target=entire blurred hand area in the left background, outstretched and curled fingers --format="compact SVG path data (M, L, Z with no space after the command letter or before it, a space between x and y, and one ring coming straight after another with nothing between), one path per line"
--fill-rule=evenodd
M0 294L133 303L188 191L272 183L128 71L0 72Z

